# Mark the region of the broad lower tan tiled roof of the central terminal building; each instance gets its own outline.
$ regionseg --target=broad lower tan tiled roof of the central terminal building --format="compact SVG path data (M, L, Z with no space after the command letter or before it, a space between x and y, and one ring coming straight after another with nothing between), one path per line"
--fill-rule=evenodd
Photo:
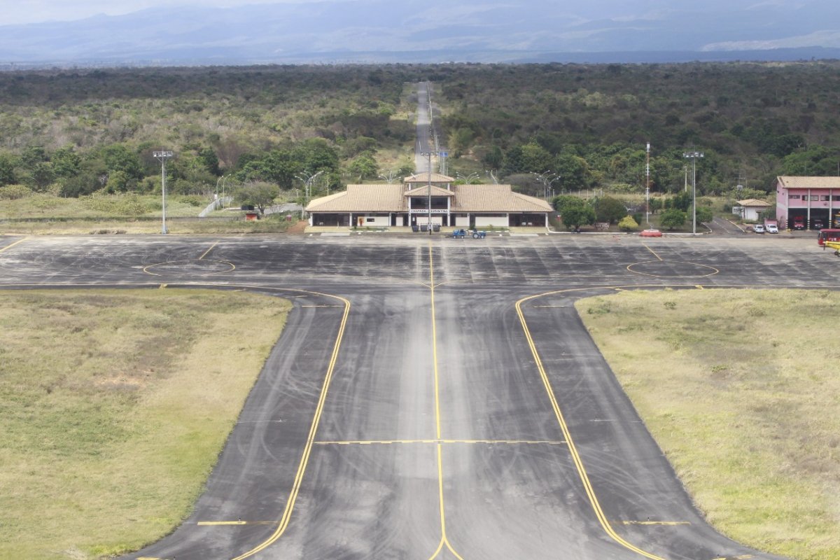
M407 194L428 196L428 187L406 191L402 185L348 185L347 191L311 201L307 212L407 212ZM452 196L452 212L552 212L534 196L513 192L510 185L432 186L432 196Z

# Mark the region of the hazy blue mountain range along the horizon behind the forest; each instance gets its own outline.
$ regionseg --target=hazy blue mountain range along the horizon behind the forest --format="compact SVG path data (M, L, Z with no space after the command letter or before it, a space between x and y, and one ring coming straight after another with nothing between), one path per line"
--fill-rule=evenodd
M811 58L840 58L837 0L325 0L0 26L5 68Z

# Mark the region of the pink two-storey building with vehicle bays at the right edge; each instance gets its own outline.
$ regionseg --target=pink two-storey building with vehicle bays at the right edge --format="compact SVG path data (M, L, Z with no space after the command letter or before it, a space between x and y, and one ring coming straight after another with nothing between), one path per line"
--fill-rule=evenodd
M797 219L808 229L840 228L840 177L791 177L776 180L776 220L790 228Z

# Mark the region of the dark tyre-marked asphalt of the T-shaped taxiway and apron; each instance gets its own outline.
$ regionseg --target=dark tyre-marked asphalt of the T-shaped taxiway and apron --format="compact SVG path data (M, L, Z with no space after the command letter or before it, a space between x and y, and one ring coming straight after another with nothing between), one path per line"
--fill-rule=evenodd
M769 236L0 238L0 287L295 305L192 516L132 559L774 558L706 525L573 303L838 266Z

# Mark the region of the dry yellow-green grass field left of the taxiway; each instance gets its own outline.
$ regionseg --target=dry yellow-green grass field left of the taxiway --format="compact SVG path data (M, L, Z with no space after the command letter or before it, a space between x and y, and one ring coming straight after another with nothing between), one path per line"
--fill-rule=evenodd
M104 557L171 531L290 307L230 291L4 291L0 557Z

